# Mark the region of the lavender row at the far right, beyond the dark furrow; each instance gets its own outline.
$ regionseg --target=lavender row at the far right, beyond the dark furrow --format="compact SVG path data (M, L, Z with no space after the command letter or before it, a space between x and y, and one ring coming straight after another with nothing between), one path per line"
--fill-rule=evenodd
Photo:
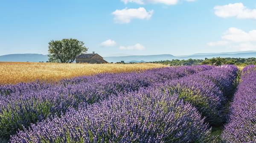
M256 66L244 67L221 135L224 143L256 143Z

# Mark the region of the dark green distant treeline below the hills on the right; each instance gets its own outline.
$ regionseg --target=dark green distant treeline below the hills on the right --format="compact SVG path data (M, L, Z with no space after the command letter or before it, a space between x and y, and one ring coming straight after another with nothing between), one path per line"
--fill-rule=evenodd
M178 66L178 65L198 65L198 64L210 64L210 65L222 65L222 64L235 64L235 65L250 65L256 64L256 58L205 58L203 59L187 59L187 60L166 60L159 62L150 62L150 63L161 63L170 66Z

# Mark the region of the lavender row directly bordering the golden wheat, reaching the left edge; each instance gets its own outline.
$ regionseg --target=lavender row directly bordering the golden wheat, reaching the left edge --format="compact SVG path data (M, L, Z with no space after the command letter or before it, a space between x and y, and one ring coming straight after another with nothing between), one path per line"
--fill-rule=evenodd
M142 73L99 74L62 80L55 84L40 82L6 85L0 95L0 137L14 135L49 116L61 116L81 103L93 104L112 95L137 91L155 82L178 79L209 70L211 66L169 67Z

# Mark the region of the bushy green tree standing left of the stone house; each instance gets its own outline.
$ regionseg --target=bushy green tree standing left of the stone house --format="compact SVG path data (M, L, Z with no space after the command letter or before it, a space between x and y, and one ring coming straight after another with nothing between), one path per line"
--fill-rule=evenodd
M84 42L77 39L52 40L48 46L49 62L72 63L77 56L87 50Z

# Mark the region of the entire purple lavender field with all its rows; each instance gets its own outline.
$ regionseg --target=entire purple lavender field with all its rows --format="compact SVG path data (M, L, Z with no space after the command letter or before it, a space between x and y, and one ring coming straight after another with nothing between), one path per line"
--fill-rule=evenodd
M256 143L256 66L0 85L3 143ZM1 140L0 140L1 142Z

